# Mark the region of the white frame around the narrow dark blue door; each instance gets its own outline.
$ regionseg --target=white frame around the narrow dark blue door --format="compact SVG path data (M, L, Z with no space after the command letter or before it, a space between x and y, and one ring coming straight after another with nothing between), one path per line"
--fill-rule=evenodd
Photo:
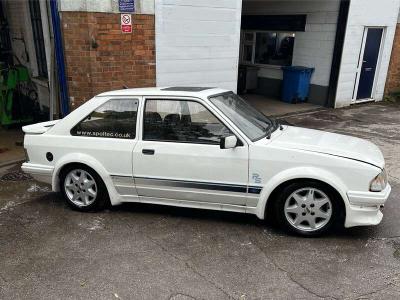
M376 63L376 69L375 69L375 75L374 75L374 83L372 85L372 92L371 92L371 98L366 98L366 99L357 99L357 93L358 93L358 88L360 85L360 78L361 78L361 71L362 71L362 66L363 66L363 60L364 60L364 53L365 53L365 45L367 43L367 36L368 36L368 30L370 28L377 28L377 29L382 29L382 38L381 38L381 44L379 47L379 54L378 54L378 61ZM353 90L353 96L351 99L351 104L356 104L356 103L363 103L363 102L371 102L371 101L376 101L375 100L375 93L376 93L376 86L377 86L377 78L381 66L381 61L382 61L382 50L383 50L383 45L384 45L384 40L386 38L386 27L385 26L364 26L364 32L363 32L363 37L362 37L362 43L361 43L361 49L360 49L360 54L358 58L358 64L357 64L357 69L356 69L356 80L354 83L354 90Z

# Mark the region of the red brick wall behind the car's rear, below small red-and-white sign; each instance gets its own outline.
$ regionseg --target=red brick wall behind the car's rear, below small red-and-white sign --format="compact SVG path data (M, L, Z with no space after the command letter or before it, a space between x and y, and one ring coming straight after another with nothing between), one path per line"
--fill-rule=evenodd
M62 12L61 22L72 109L124 85L155 86L153 15L132 15L132 33L114 13Z

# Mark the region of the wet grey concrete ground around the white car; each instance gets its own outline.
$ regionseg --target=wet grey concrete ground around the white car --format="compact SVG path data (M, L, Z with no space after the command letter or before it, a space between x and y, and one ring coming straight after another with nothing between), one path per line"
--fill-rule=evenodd
M235 213L135 204L83 214L16 166L0 170L0 299L399 299L400 106L286 121L382 148L393 192L381 225L306 239Z

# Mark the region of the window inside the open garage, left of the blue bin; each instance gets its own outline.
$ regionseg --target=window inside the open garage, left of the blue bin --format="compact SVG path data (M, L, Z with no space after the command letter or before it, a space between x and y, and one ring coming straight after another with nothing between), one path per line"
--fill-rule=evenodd
M291 66L295 33L245 31L242 34L242 62Z

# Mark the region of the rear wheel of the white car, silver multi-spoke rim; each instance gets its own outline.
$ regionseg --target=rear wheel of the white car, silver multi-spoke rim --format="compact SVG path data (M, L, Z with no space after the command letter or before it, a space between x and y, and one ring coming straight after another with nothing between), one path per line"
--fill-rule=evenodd
M109 204L103 180L93 169L86 166L71 165L62 170L60 190L67 204L78 211L98 211Z

